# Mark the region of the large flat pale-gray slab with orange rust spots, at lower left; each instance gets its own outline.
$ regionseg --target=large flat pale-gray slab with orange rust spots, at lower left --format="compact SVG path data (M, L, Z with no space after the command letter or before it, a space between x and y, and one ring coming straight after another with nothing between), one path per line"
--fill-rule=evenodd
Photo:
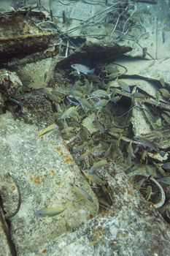
M10 218L18 255L37 252L48 241L96 216L98 200L63 145L60 132L40 139L36 126L15 121L10 113L1 116L0 130L1 197L7 214L18 206L18 192L7 173L15 176L22 195L20 211ZM77 200L72 192L74 179L93 197L93 203ZM34 216L36 210L66 202L69 205L57 217Z

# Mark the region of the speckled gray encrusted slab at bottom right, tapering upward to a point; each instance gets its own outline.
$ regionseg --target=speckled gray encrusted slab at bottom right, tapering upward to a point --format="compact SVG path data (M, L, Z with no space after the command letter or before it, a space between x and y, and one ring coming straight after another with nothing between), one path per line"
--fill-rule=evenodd
M113 200L109 212L50 241L42 250L53 256L169 255L169 225L155 209L144 205L122 170L110 165L105 178Z

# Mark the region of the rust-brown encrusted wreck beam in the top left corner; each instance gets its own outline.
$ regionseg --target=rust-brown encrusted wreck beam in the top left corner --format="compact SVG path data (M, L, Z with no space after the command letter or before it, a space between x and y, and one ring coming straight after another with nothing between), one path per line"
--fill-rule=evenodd
M36 26L36 18L45 19L41 12L3 12L0 14L0 54L1 64L12 58L22 59L31 53L42 52L57 38L54 32L48 32Z

